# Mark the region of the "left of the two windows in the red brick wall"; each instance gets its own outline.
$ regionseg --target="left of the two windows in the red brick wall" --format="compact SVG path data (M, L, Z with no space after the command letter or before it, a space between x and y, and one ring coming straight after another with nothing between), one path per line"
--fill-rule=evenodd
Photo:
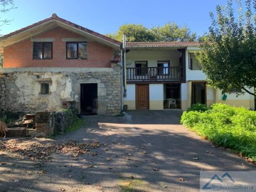
M52 59L53 43L34 42L33 43L33 59Z

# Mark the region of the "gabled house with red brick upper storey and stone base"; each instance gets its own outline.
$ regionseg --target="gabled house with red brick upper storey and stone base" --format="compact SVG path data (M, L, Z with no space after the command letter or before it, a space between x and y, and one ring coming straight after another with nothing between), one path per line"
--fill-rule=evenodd
M56 14L1 37L1 110L118 113L121 45Z

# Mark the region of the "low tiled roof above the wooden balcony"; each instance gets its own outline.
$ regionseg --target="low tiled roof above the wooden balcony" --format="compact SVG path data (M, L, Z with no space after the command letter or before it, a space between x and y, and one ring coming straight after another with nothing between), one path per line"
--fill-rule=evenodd
M200 42L127 42L126 48L185 48L200 46Z

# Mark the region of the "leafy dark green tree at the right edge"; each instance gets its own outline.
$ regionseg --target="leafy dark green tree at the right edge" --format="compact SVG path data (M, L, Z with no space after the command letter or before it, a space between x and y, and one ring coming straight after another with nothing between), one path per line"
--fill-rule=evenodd
M212 23L197 57L209 85L255 95L250 88L256 87L256 0L246 0L245 10L240 0L236 5L238 13L233 0L216 7L217 18L210 13Z

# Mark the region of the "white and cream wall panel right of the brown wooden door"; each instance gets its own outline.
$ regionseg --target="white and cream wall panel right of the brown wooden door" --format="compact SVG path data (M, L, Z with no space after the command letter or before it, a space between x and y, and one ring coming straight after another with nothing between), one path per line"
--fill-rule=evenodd
M149 110L164 110L163 84L149 84Z

